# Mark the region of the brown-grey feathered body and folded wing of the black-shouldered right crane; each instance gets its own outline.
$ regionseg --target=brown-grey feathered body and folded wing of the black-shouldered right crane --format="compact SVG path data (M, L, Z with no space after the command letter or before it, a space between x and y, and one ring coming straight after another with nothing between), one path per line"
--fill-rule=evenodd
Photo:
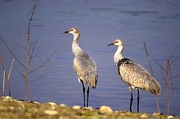
M140 88L154 95L160 93L160 85L156 79L144 67L127 58L119 61L118 73L131 88Z

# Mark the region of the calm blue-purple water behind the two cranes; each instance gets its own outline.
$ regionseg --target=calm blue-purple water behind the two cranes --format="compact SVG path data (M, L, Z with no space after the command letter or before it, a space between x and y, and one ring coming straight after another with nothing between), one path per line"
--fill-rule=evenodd
M94 108L109 105L114 110L129 110L130 93L127 86L120 80L117 68L113 62L116 47L107 47L116 38L125 42L125 57L140 63L149 70L143 41L146 42L149 54L162 66L166 59L180 56L180 2L179 1L126 1L126 0L70 0L64 1L23 1L3 0L0 2L0 36L11 42L21 43L20 37L11 25L18 28L26 39L26 26L29 13L33 5L37 4L31 27L31 40L40 39L37 43L32 63L49 55L58 47L64 45L57 57L43 72L34 75L37 78L45 73L43 78L29 84L29 100L39 102L53 101L57 104L65 103L68 106L83 105L82 87L77 82L73 70L71 51L72 36L62 34L71 27L77 27L81 32L79 45L93 57L98 66L98 85L90 91L90 106ZM11 25L9 25L8 21ZM9 44L14 53L25 60L25 52L17 45ZM2 50L1 56L11 62L12 58ZM14 50L15 49L15 50ZM157 63L151 59L154 75L162 87L159 103L162 113L167 113L166 86ZM15 66L20 65L15 61ZM8 70L9 65L5 63ZM22 67L21 67L22 68ZM150 70L149 70L150 71ZM179 59L172 67L173 76L179 75ZM2 77L2 68L0 68ZM12 96L24 99L24 79L13 68L10 77ZM170 85L170 114L180 115L180 80L179 77ZM2 81L0 84L2 89ZM6 86L6 95L7 86ZM136 90L134 90L133 111L136 111ZM156 112L156 102L153 95L140 91L140 111Z

